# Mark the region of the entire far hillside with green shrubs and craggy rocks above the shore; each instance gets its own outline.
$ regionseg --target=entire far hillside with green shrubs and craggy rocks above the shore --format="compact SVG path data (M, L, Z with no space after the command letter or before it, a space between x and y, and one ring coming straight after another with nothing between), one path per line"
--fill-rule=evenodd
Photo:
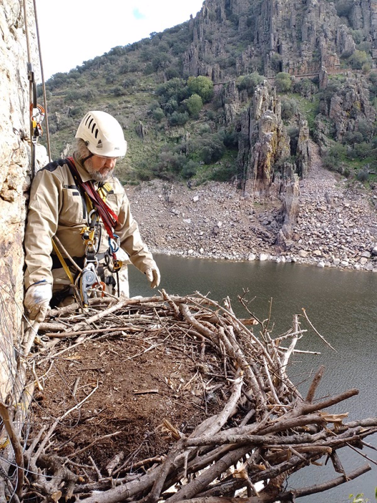
M101 108L126 130L123 182L237 179L266 190L307 175L312 137L326 166L373 186L375 8L206 0L196 18L47 82L53 156L69 151L85 111Z

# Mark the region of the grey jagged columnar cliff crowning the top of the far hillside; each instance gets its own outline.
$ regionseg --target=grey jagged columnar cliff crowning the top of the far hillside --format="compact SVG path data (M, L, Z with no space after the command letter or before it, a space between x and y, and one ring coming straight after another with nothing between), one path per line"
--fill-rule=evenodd
M193 42L183 57L184 73L214 81L252 71L272 76L337 68L340 57L355 49L350 28L367 34L377 57L374 0L353 2L347 20L326 0L206 0L190 23Z

